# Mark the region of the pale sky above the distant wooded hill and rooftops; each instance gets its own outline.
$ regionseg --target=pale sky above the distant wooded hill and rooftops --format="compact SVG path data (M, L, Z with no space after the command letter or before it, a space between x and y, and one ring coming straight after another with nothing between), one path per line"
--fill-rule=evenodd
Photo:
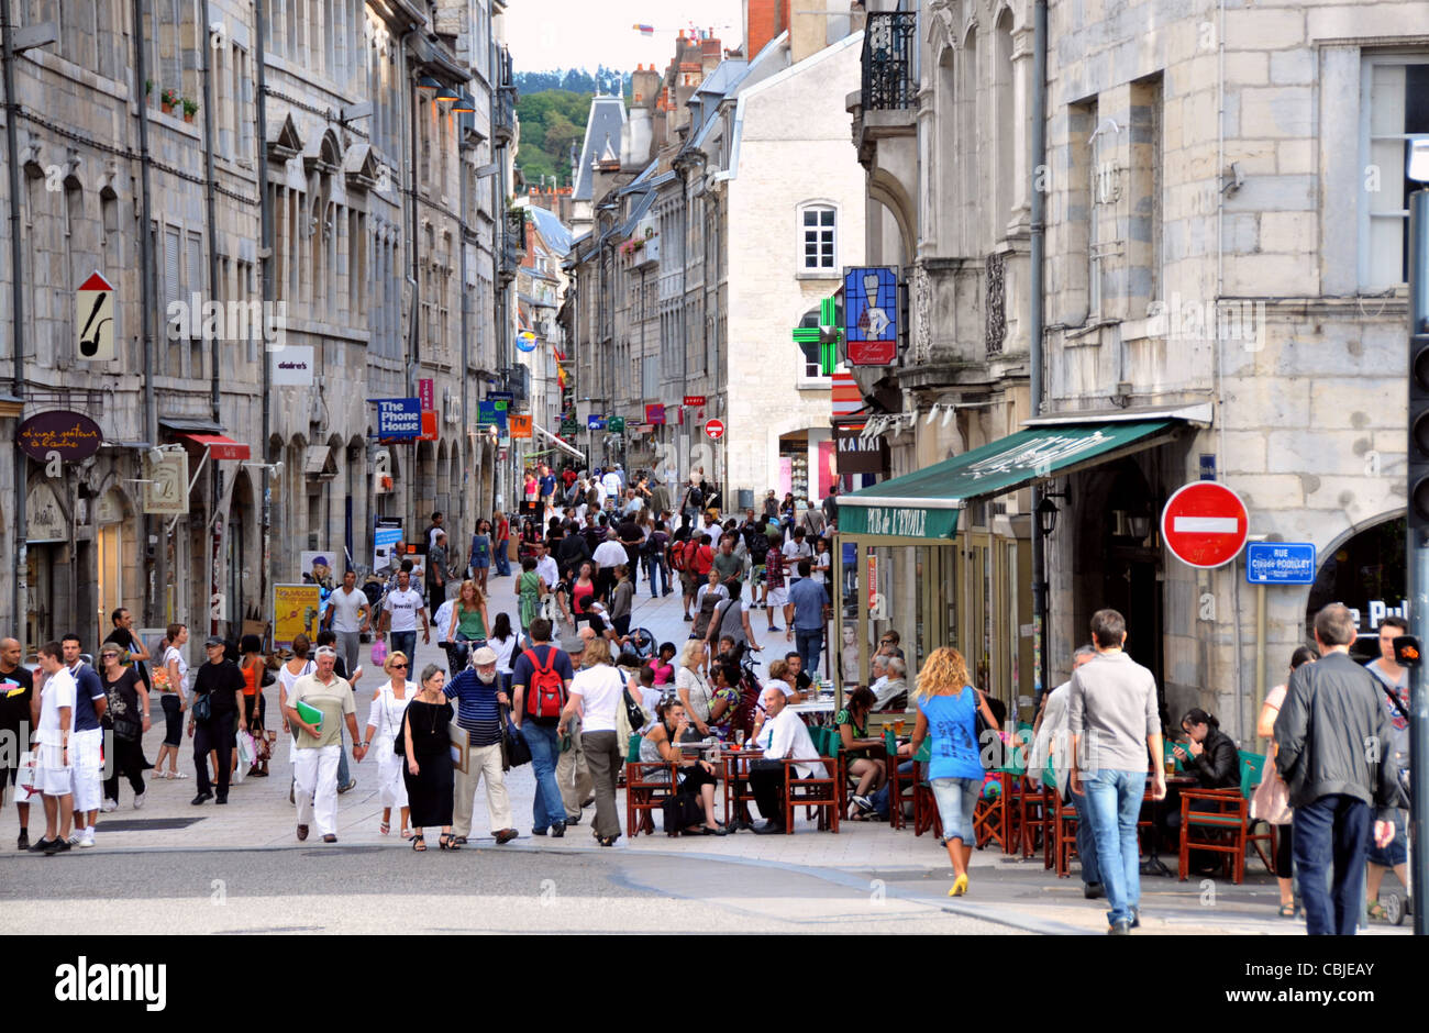
M740 11L740 0L512 0L506 43L517 71L663 69L677 31L689 31L692 23L713 29L726 47L739 46ZM643 36L634 24L653 26L654 36Z

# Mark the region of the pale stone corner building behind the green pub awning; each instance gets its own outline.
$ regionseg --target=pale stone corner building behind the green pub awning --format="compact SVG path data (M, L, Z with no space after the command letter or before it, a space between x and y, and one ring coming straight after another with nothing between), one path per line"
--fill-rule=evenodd
M1258 700L1309 612L1343 600L1372 633L1402 604L1403 151L1429 131L1410 101L1429 61L1423 4L1052 1L1040 169L1035 4L867 7L875 43L849 107L876 201L869 259L910 284L900 364L859 373L892 473L1032 417L1030 191L1043 190L1042 426L1166 424L1040 481L1060 510L1045 537L1049 684L1092 612L1116 606L1169 720L1202 706L1253 746ZM1252 539L1312 543L1316 583L1259 589L1240 560L1175 559L1159 517L1202 477L1240 494ZM960 552L1017 557L990 567L1007 616L975 612L980 559L947 593L970 663L1025 703L1029 507L1023 489L963 511Z

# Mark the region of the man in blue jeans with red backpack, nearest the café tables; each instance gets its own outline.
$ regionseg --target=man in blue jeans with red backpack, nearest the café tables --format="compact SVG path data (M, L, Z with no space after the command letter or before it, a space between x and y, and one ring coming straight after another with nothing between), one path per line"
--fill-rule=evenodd
M566 706L574 670L570 657L552 644L550 622L532 622L532 647L523 650L512 672L512 720L532 750L536 769L536 799L532 803L532 834L566 834L566 804L556 782L560 759L560 712Z

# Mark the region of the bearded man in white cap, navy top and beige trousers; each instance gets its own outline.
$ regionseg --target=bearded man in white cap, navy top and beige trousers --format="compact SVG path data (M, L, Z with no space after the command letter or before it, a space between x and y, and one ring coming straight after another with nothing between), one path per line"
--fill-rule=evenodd
M449 700L456 700L456 723L466 729L472 747L472 763L467 770L456 770L456 802L452 813L452 834L457 844L464 846L472 834L472 804L476 800L476 784L486 777L486 813L492 822L492 834L497 843L516 839L512 827L512 804L506 794L506 776L502 773L502 706L510 703L502 692L496 674L496 650L482 646L472 654L472 666L447 682L443 689Z

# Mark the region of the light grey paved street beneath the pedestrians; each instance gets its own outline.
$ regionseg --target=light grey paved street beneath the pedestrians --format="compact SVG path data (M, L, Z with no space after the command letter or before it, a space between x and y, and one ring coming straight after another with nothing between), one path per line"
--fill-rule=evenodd
M514 612L512 579L493 579L490 586L492 616ZM687 624L677 596L652 600L643 592L633 624L649 627L660 640L683 642ZM417 660L446 663L434 643L419 644ZM360 720L366 720L370 679L359 683L366 687L359 692ZM276 700L272 687L269 697ZM150 759L160 737L157 732L146 737ZM191 774L187 749L184 759ZM1075 877L1057 880L1040 859L1009 859L992 849L973 854L969 897L949 900L952 872L937 842L885 823L846 822L830 834L800 819L793 836L692 840L657 833L633 842L622 837L614 850L602 850L587 832L593 814L587 809L586 820L564 839L536 839L530 836L530 766L507 779L522 834L506 846L490 839L480 792L472 844L457 854L440 853L432 837L427 854L413 856L396 826L392 836L380 836L373 760L354 766L357 789L339 797L340 842L297 843L287 803L287 749L279 749L274 760L273 774L236 786L227 807L190 806L190 777L151 780L147 806L136 812L126 784L120 810L101 816L93 850L53 859L0 853L0 932L80 933L99 919L113 929L160 933L173 929L176 914L183 916L184 932L213 933L1105 929L1100 902L1083 900ZM620 809L623 820L623 794ZM37 820L31 817L34 836L43 832ZM6 809L0 830L0 842L13 843L13 809ZM63 882L56 879L60 872L67 873ZM76 894L76 884L101 886L103 893ZM1216 883L1213 889L1143 879L1145 932L1303 930L1302 923L1275 916L1275 884L1259 863L1248 864L1245 886ZM400 894L402 906L382 894ZM1408 927L1372 932L1408 933Z

